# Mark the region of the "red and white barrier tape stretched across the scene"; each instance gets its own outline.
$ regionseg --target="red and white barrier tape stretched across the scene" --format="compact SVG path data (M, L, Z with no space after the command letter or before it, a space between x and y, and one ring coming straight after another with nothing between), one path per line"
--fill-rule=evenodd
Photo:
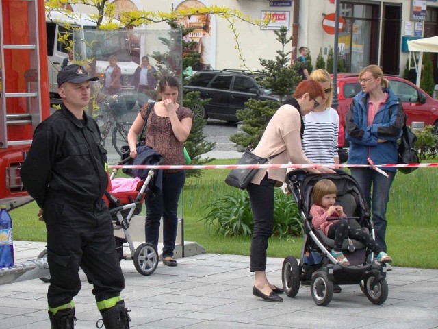
M108 166L111 169L261 169L261 168L368 168L370 164L181 164L181 165L118 165ZM438 167L438 163L411 163L411 164L375 164L377 168L404 168L404 167Z

